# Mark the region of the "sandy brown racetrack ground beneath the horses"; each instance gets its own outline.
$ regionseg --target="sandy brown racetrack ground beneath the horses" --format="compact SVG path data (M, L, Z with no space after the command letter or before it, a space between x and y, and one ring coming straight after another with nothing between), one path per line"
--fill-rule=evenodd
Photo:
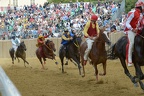
M59 58L56 59L61 67ZM45 65L47 70L41 69L37 58L27 58L27 61L33 68L25 68L22 60L12 65L10 58L0 59L0 65L22 96L144 96L141 88L134 87L124 74L119 60L107 61L107 74L99 76L98 83L90 64L86 65L83 78L71 62L65 66L66 73L62 73L50 59ZM102 65L98 65L98 69L103 72ZM134 67L129 67L129 70L134 74Z

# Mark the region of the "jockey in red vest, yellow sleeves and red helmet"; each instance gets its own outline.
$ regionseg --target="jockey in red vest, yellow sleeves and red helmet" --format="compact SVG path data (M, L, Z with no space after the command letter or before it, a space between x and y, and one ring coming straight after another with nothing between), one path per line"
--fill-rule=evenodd
M84 37L86 38L87 42L87 49L84 53L84 65L87 63L88 55L92 48L93 42L96 38L99 37L99 25L97 23L98 16L92 15L91 19L86 23L84 27Z

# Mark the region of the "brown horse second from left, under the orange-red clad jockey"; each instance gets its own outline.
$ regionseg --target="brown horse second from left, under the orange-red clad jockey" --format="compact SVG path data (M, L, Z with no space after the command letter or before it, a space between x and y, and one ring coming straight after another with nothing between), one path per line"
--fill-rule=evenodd
M55 48L54 42L49 40L49 39L47 39L45 41L45 44L42 45L42 48L43 48L43 53L40 52L40 48L36 49L36 56L39 59L41 65L42 65L42 69L45 69L44 64L46 64L46 62L45 62L46 58L55 60L54 52L56 51L56 48ZM43 64L42 59L44 61L44 64ZM58 62L56 60L55 60L55 64L58 64Z

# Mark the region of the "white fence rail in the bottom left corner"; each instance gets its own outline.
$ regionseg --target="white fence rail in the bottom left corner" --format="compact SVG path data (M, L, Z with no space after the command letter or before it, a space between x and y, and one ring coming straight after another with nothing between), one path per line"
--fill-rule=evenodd
M13 82L0 66L0 96L21 96Z

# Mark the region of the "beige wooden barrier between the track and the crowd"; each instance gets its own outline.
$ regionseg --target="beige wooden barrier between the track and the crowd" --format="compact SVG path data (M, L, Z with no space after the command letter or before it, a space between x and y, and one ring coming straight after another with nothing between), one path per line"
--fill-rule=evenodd
M112 41L112 44L114 44L120 37L124 36L123 32L117 32L117 33L111 33L109 35L110 40ZM56 47L56 52L55 54L58 56L58 51L61 46L61 38L49 38L55 43ZM24 39L21 40L24 41L27 47L26 51L26 57L36 57L35 51L37 49L36 43L37 39ZM11 41L10 40L0 40L0 58L10 58L9 55L9 49L12 47ZM108 49L108 46L106 45L106 49Z

